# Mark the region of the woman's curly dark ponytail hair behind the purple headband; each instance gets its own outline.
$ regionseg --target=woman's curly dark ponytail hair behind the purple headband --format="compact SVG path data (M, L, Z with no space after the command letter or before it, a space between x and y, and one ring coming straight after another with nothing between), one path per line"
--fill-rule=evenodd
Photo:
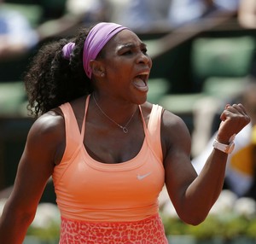
M24 82L30 115L38 117L50 109L92 92L93 86L84 73L84 40L90 28L80 30L73 39L61 38L44 44L32 59ZM73 41L70 60L64 59L62 48Z

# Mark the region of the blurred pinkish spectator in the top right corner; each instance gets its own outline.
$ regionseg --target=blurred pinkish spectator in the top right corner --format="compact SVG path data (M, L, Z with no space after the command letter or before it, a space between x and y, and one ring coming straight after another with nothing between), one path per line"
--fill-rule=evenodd
M244 28L256 28L256 1L241 0L238 9L238 20Z

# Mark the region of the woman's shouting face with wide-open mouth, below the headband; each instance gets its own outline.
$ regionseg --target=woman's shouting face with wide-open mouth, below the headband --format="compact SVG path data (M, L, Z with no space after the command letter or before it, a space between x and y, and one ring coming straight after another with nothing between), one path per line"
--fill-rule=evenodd
M99 61L105 78L97 89L119 99L119 102L145 102L152 67L146 45L134 32L123 30L106 44L102 52L103 58Z

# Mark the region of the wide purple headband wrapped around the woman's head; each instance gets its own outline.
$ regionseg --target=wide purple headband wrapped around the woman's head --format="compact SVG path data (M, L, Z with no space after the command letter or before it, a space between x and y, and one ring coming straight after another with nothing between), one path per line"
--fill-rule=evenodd
M110 38L113 38L116 33L124 29L128 28L115 23L102 22L90 30L84 42L83 54L84 71L88 78L91 78L90 61L96 59L96 56L105 46L105 44L108 43Z

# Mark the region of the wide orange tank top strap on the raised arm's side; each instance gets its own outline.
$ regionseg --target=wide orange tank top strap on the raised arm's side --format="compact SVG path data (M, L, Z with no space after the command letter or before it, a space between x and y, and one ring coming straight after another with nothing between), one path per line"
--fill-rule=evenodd
M148 137L151 148L154 151L154 154L162 161L163 152L161 147L161 138L160 138L160 124L161 124L161 114L162 107L159 105L153 104L151 109L150 117L148 120Z

